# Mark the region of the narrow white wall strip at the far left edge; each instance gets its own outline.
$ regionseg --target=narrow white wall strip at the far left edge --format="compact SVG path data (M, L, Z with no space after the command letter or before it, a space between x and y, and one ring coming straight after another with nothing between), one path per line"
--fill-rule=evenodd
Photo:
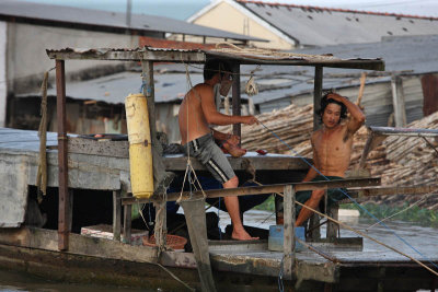
M7 103L7 23L0 21L0 127L4 127Z

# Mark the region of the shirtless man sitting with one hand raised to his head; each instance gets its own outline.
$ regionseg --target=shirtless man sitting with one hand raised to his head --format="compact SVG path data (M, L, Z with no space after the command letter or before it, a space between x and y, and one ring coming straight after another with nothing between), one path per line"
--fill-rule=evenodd
M347 117L347 110L350 114ZM346 97L336 93L327 93L321 100L320 117L322 128L311 137L313 150L313 167L310 167L302 182L321 182L339 179L350 163L354 133L364 125L365 115L360 108ZM322 175L321 175L322 174ZM330 189L328 205L345 198L341 189ZM306 206L316 209L324 196L323 189L298 191L296 198ZM302 225L312 214L307 208L297 208L297 226Z

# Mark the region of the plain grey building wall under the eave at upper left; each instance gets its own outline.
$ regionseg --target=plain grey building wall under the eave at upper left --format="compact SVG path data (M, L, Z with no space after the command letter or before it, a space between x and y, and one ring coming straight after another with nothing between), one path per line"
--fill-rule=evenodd
M1 38L4 39L4 38ZM15 80L9 91L21 91L20 85L28 78L49 70L55 61L47 57L46 49L62 48L136 48L138 36L81 31L64 27L9 23L8 75ZM67 61L66 74L116 61ZM41 79L42 77L39 77ZM12 85L12 84L11 84Z

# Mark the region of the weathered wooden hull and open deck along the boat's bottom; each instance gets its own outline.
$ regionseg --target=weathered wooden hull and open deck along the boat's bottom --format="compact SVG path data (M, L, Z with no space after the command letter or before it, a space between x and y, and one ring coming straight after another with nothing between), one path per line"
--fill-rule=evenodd
M389 237L389 233L381 227L370 232L370 235ZM422 245L419 249L428 259L438 264L438 235L434 230L422 235L404 230L402 235L410 242L415 236L420 236L422 240L414 241L414 245L423 240L427 242L428 245ZM343 231L342 236L351 236L351 233ZM76 234L71 234L69 241L69 252L59 254L56 231L26 227L0 230L0 267L19 268L51 279L71 281L134 287L146 287L153 282L173 289L181 287L170 275L160 271L157 265L161 264L178 277L184 277L183 280L189 285L198 287L196 260L191 253L164 252L158 258L157 249L152 247L131 246ZM338 262L332 262L311 250L298 252L298 282L284 280L285 288L298 288L297 291L321 291L327 287L332 291L379 291L380 287L381 291L416 291L430 289L436 279L415 262L372 242L365 241L364 249L357 252L345 252L333 244L310 244L336 258ZM420 259L407 246L399 243L397 247ZM246 281L249 291L278 291L277 280L284 254L267 250L266 241L231 241L221 242L220 245L211 241L209 248L218 289L238 289L242 281ZM67 258L69 261L66 261ZM112 271L112 266L118 268ZM102 270L96 271L99 268ZM159 279L148 279L148 273ZM145 279L140 280L141 278Z

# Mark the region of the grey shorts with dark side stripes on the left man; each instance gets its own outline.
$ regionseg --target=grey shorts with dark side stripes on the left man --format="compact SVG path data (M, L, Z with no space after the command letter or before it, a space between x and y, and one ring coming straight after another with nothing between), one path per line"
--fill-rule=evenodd
M222 150L215 143L211 133L192 140L183 148L186 155L188 149L189 154L206 166L212 176L222 184L235 176Z

